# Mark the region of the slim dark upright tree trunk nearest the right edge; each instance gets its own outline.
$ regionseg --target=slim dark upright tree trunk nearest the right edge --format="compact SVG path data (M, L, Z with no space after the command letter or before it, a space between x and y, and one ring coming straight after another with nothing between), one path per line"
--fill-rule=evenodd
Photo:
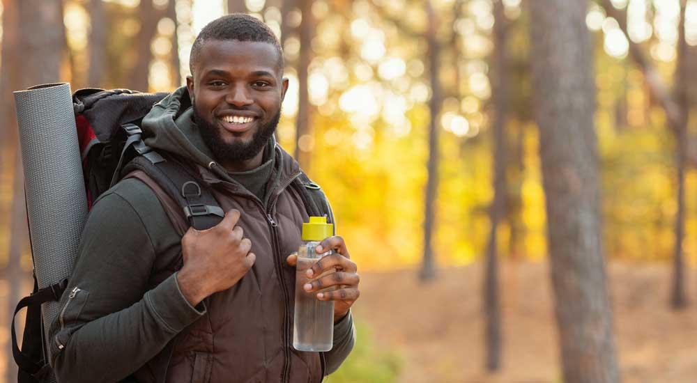
M677 70L675 72L675 100L680 107L680 125L675 135L675 171L677 173L677 212L675 214L675 245L673 249L673 288L671 306L675 309L687 306L685 294L685 272L682 241L685 236L685 157L687 155L687 120L689 102L687 99L687 41L685 40L686 0L680 1L680 23L678 23Z

